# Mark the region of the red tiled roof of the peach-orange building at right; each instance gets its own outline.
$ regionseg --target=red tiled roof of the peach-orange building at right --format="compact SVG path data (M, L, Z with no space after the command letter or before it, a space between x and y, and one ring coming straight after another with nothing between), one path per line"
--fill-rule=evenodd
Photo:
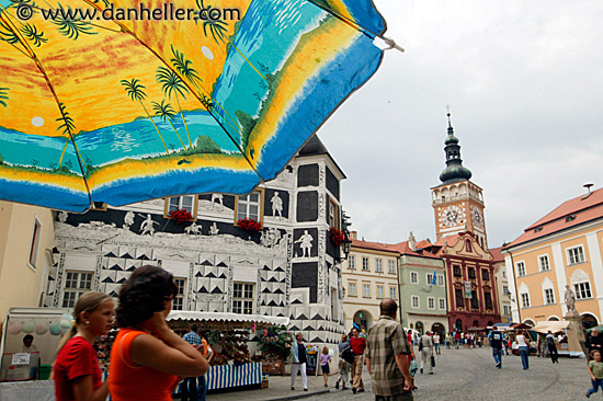
M593 191L589 196L580 195L564 202L553 209L553 211L527 227L523 234L504 247L504 249L564 231L602 217L603 188L599 188Z

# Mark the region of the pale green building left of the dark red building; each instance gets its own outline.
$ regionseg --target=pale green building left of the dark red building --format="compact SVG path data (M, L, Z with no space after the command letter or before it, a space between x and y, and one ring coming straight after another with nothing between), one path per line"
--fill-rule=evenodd
M399 297L405 328L420 333L426 331L445 335L448 330L448 300L446 296L446 270L444 261L424 251L414 237L391 245L400 253Z

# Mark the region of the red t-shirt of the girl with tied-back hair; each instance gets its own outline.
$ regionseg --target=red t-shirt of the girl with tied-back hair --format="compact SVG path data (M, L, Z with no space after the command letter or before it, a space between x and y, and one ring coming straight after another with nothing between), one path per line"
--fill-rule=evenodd
M96 351L84 337L76 336L67 342L55 360L55 396L57 401L73 400L72 380L92 375L92 389L101 387L101 368Z

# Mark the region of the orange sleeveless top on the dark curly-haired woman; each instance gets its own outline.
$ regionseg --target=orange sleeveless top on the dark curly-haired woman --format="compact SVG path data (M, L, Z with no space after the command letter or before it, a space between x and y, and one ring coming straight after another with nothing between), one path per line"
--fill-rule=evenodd
M109 391L114 401L169 401L178 376L168 375L132 362L132 342L138 335L150 335L134 329L121 329L111 350Z

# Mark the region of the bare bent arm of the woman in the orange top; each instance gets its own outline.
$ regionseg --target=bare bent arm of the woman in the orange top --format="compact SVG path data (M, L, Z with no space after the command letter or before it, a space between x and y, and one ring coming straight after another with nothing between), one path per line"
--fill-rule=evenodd
M145 322L152 335L138 335L132 342L132 360L164 374L184 377L205 375L209 364L201 352L175 334L161 312Z

